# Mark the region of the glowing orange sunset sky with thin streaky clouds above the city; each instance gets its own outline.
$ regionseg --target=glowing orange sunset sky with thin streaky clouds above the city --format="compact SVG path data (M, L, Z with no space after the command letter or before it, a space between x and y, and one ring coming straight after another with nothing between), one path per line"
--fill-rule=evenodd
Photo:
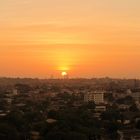
M140 0L0 1L0 76L140 78Z

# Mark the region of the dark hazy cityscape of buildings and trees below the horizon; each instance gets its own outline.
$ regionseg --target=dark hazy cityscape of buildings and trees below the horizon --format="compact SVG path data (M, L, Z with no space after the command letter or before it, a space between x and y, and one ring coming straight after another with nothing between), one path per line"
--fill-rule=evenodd
M140 80L0 78L0 138L139 140Z

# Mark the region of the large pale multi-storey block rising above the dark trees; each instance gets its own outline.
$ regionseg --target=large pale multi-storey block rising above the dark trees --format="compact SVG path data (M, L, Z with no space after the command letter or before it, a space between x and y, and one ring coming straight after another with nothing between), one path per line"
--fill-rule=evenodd
M84 96L84 101L94 101L95 104L104 103L104 91L89 92Z

